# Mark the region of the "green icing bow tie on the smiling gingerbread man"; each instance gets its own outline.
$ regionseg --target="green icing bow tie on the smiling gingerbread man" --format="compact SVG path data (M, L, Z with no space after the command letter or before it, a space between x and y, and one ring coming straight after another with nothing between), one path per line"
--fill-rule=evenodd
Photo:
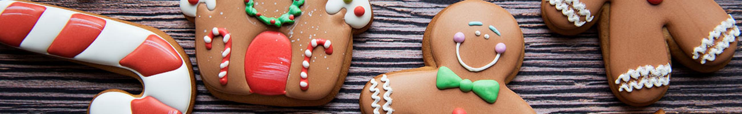
M497 94L500 92L500 84L495 80L487 79L472 82L469 79L462 79L448 67L438 69L436 87L439 90L459 87L464 93L474 91L474 94L479 95L479 98L490 104L497 101Z

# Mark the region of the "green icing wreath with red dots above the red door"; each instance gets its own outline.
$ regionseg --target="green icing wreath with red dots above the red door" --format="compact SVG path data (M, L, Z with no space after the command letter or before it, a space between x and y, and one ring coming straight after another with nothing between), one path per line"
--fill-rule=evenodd
M276 27L280 27L283 24L294 24L294 18L295 16L301 15L301 9L299 9L299 6L304 4L304 0L293 0L294 2L289 6L289 12L283 13L278 19L273 17L266 17L261 15L260 13L257 13L257 10L255 10L255 7L252 7L255 5L255 0L246 0L246 7L245 12L247 12L247 15L249 16L257 16L257 19L260 21L263 21L263 23L268 25L275 25Z

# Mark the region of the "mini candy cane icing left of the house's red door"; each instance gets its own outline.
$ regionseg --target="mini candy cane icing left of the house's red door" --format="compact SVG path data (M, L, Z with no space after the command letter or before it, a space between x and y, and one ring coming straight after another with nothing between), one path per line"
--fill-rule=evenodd
M209 32L209 35L203 36L203 41L206 42L206 50L211 50L211 39L214 36L224 36L224 51L222 52L222 63L219 64L219 83L222 85L227 84L227 70L229 70L229 56L232 55L232 34L229 34L224 28L214 27Z

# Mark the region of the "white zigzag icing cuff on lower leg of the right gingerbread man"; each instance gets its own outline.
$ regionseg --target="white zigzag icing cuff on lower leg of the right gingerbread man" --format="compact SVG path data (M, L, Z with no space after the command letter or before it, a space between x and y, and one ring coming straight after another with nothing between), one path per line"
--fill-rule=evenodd
M640 90L644 87L661 87L670 84L670 63L660 64L657 67L651 65L637 67L636 70L628 70L616 78L615 84L620 84L618 91L631 93L634 89Z

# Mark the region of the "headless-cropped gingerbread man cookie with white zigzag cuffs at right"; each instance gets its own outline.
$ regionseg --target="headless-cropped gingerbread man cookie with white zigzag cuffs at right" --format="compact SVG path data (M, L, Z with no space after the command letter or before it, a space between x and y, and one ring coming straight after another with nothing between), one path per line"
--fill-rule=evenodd
M667 91L672 59L692 70L723 68L737 48L737 22L712 0L544 0L542 18L554 32L575 35L599 24L614 95L645 106Z

